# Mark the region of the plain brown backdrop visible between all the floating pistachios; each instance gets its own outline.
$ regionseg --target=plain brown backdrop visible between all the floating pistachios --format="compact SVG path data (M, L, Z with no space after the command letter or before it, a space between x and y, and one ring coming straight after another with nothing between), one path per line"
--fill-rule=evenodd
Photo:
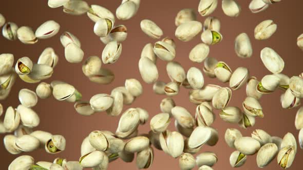
M119 0L103 0L103 1L87 1L89 4L98 4L108 8L115 13L116 8L121 1ZM97 93L110 94L111 89L123 86L126 78L139 79L144 87L144 94L137 98L132 105L125 105L123 110L129 107L141 107L149 112L150 117L160 113L159 104L164 95L155 95L152 91L152 84L146 84L142 81L138 69L138 60L141 50L148 42L154 43L156 40L149 38L140 30L140 21L148 18L154 20L163 30L164 36L174 37L175 34L175 16L182 8L193 8L197 10L198 1L141 1L140 9L137 15L130 20L117 20L116 24L124 24L128 28L128 38L123 42L123 50L120 59L112 65L103 65L104 68L111 69L116 79L109 85L100 85L90 82L82 73L81 63L72 64L64 58L64 48L60 43L60 34L63 31L69 31L76 35L82 42L82 49L85 52L85 58L91 55L101 57L104 45L99 37L93 33L93 22L86 16L72 16L63 13L62 8L51 9L47 6L47 1L2 1L0 12L6 17L7 21L15 22L18 26L30 26L34 30L46 20L56 20L61 25L59 34L46 40L40 40L35 45L24 45L20 41L9 41L4 37L0 37L0 53L14 54L15 61L23 56L30 57L33 61L37 61L39 55L46 47L54 48L59 55L59 63L54 69L53 76L46 82L58 79L73 84L83 94L84 100ZM270 6L266 11L253 14L249 11L249 1L239 1L242 12L238 17L228 17L221 10L221 2L218 8L212 14L217 16L221 21L221 33L223 41L220 44L212 46L210 55L227 62L230 67L235 70L237 67L243 66L249 68L251 75L261 78L266 74L270 74L262 65L259 57L260 50L264 47L271 47L284 59L284 74L288 76L298 75L302 72L301 63L302 51L296 46L296 38L303 32L301 24L300 11L303 5L302 1L282 1ZM203 22L205 17L197 14L198 20ZM257 41L254 39L254 28L265 19L273 19L278 25L276 33L268 40ZM247 33L254 49L253 56L247 59L238 58L234 52L234 39L239 34ZM176 38L174 37L176 40ZM190 42L181 42L176 40L176 61L182 63L184 69L197 67L202 69L202 63L194 63L188 59L190 50L200 43L200 34ZM168 82L166 74L166 62L158 59L157 66L159 69L159 80ZM228 86L228 83L219 83L216 79L206 78L205 84L217 83L220 86ZM18 91L22 88L35 90L37 84L29 84L17 79L10 96L0 101L6 109L10 105L17 107ZM265 117L257 118L256 125L248 130L243 130L237 124L229 124L223 122L218 116L213 127L218 129L220 140L214 147L203 146L199 152L212 151L218 155L218 163L214 169L232 169L229 164L229 156L234 151L229 148L224 141L224 133L226 128L239 128L243 135L250 136L254 129L263 129L272 136L283 137L287 132L291 132L297 138L298 131L294 126L294 118L296 109L284 110L281 108L279 97L282 94L277 90L273 94L263 96L261 103ZM241 103L245 98L245 88L233 91L233 97L229 105L241 107ZM194 114L196 106L188 101L188 90L181 88L180 94L174 97L176 104L185 107ZM80 145L82 140L93 130L109 130L115 132L119 117L109 117L105 113L97 113L95 115L85 117L77 114L73 109L73 103L56 101L53 97L49 99L39 99L37 105L33 108L39 113L41 118L40 125L35 130L44 130L52 134L62 134L67 139L66 150L57 155L47 154L43 149L36 150L31 153L23 153L31 155L35 161L52 161L56 157L64 157L68 160L78 160L80 157ZM218 114L218 111L215 111ZM3 119L3 117L2 117ZM140 133L149 131L149 122L140 125ZM173 123L169 126L170 130L175 130ZM4 135L0 135L3 139ZM4 148L3 142L0 142L0 169L6 169L10 162L20 155L10 155ZM303 152L298 149L296 159L290 169L301 169L303 160ZM108 169L137 169L135 161L132 163L124 163L116 160L109 164ZM247 162L239 169L256 169L256 156L249 156ZM155 159L150 169L179 169L178 159L174 159L162 151L155 150ZM197 169L197 168L196 168ZM265 169L279 169L276 159Z

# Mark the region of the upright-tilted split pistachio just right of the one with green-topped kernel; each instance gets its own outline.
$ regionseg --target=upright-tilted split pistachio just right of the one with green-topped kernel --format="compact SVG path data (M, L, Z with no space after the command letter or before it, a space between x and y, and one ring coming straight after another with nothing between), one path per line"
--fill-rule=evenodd
M232 90L238 90L241 88L249 78L249 70L244 67L238 67L230 78L230 88Z

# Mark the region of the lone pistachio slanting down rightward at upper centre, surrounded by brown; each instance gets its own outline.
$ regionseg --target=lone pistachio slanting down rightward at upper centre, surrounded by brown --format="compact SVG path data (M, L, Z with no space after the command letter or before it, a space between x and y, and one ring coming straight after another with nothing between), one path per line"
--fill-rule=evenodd
M140 27L141 30L151 38L159 39L163 35L161 28L149 19L141 20Z

